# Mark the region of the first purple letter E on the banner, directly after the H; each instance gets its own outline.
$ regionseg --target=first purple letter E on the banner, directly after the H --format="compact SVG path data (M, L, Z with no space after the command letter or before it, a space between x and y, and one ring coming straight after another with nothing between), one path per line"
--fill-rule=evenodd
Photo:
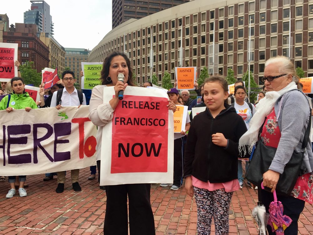
M20 154L15 156L10 155L10 147L12 144L27 144L27 136L11 137L11 135L29 134L30 131L30 125L8 126L8 164L23 164L32 162L31 154Z

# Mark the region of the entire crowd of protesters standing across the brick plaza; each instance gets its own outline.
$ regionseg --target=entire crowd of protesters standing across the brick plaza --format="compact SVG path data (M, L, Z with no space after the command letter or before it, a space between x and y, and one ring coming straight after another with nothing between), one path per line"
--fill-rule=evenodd
M19 65L18 61L16 65ZM124 82L118 81L119 73L125 76ZM119 91L124 91L126 86L135 86L132 81L131 62L125 53L115 51L105 58L100 80L101 85L92 89L90 102L86 102L85 94L74 87L76 81L74 72L66 70L62 73L62 79L50 89L44 90L43 86L40 86L40 101L36 103L25 92L25 83L19 74L9 83L1 82L0 95L3 94L5 97L0 102L0 110L14 112L14 109L25 109L26 112L30 112L31 109L38 107L79 108L81 105L89 104L89 118L98 127L96 164L100 183L102 129L112 121L113 112L119 103ZM236 81L234 93L229 94L227 81L220 75L210 76L201 86L197 82L194 84L197 95L201 96L200 103L190 97L188 90L179 92L176 88L171 88L167 91L169 112L175 112L177 105L187 106L188 110L205 107L205 111L198 113L194 118L192 113L188 114L184 130L174 133L173 184L160 184L162 187L170 186L169 190L178 190L185 178L185 190L188 195L195 197L197 204L199 235L210 234L212 218L215 223L215 234L228 234L231 198L234 191L243 188L242 166L245 165L246 171L249 168L249 162L241 159L250 157L251 150L257 142L277 149L268 171L263 175L263 185L272 192L279 187L280 175L292 158L293 151L302 151L302 140L309 126L309 117L313 115L313 111L310 112L312 99L302 92L294 66L283 56L271 58L265 64L263 81L264 87L259 91L255 103L250 102L242 81ZM174 87L176 85L175 83ZM104 103L103 92L107 86L114 87L115 95L112 94L113 98ZM146 81L142 86L153 85ZM15 105L16 103L18 105ZM293 220L286 228L285 234L297 234L297 221L304 203L313 202L311 146L311 143L306 144L303 151L301 166L305 170L297 179L292 194L279 197L285 214ZM93 180L96 166L90 167L90 171L88 179ZM54 175L57 175L58 182L56 192L62 193L65 171L47 173L43 180L52 180ZM10 190L6 197L11 198L15 195L16 186L19 196L27 196L25 180L25 175L9 176ZM5 177L0 176L0 181L5 181ZM73 190L81 191L79 169L71 170L71 181ZM249 181L246 184L252 189L258 189L259 186ZM150 204L151 184L100 187L105 189L107 196L104 222L106 235L128 234L128 218L131 234L155 234ZM268 211L271 193L262 190L262 197ZM268 232L274 234L270 227Z

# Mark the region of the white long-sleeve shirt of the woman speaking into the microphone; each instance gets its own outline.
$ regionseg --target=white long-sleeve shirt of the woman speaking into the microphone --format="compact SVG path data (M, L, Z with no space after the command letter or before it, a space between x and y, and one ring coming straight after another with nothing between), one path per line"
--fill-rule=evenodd
M102 129L113 118L114 109L110 103L103 103L103 88L106 85L98 85L92 89L91 98L89 102L89 119L92 123L98 126L96 135L96 160L101 159L101 142L102 142Z

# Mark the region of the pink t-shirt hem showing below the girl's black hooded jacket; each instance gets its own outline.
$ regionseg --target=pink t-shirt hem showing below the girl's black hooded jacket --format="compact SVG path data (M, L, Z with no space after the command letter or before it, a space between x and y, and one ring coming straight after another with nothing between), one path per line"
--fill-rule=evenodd
M200 189L207 189L208 191L214 191L218 189L225 189L225 192L233 192L236 190L239 190L239 181L238 179L230 180L228 182L224 183L210 183L203 182L201 180L198 180L196 177L191 176L192 179L192 185L200 188Z

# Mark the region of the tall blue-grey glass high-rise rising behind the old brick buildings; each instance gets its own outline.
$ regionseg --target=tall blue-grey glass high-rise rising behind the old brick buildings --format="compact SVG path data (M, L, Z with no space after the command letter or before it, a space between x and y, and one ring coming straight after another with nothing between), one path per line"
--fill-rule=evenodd
M24 24L36 24L39 32L53 35L54 24L50 15L50 6L45 1L30 1L30 10L24 12Z

